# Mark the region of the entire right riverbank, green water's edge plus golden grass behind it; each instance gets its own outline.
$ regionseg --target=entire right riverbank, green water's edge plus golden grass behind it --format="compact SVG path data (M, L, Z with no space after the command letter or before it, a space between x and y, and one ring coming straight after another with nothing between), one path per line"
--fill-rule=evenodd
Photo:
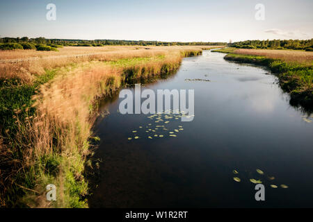
M313 110L313 66L311 52L274 50L229 50L225 60L267 67L277 74L280 87L290 94L290 104Z

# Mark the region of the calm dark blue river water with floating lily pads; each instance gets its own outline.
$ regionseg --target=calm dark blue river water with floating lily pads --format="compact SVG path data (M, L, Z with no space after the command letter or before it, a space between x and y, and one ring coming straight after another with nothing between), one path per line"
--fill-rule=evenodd
M289 105L275 76L223 56L204 51L184 58L176 74L145 85L195 89L193 121L169 119L168 131L146 133L165 124L150 114L120 114L118 96L104 101L109 115L95 124L101 142L90 207L313 207L313 122ZM184 130L169 137L178 126ZM255 200L251 178L262 180L265 201Z

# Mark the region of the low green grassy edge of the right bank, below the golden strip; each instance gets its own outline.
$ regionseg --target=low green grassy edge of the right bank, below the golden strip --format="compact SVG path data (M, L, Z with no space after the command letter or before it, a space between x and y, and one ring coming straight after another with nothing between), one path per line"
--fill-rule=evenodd
M279 83L285 92L291 95L291 105L302 105L307 110L313 110L313 69L312 60L295 61L296 59L268 58L270 56L254 56L230 53L225 60L252 63L268 67L277 74ZM298 58L297 58L298 59Z

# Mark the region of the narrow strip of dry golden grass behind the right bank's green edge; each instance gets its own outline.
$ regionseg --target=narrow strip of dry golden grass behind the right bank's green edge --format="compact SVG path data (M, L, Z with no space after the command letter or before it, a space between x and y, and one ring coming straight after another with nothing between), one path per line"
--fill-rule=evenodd
M312 51L291 51L291 50L271 50L271 49L237 49L236 54L250 56L266 56L268 58L280 59L287 62L300 62L305 65L312 65Z

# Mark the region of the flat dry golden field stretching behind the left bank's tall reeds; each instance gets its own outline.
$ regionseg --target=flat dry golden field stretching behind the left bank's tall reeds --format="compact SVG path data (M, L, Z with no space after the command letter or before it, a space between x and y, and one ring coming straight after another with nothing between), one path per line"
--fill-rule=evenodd
M214 46L210 47L212 48ZM193 51L201 48L202 46L152 46L149 48L135 46L104 46L65 47L63 53L62 51L0 51L0 55L12 53L14 58L22 58L20 62L1 63L0 60L0 78L19 78L23 83L32 83L35 76L45 74L45 69L55 69L57 67L65 67L67 65L92 60L111 61L121 58L152 57L180 51ZM85 56L81 56L82 52L85 53ZM41 53L46 56L42 58L31 57L40 55ZM56 56L56 54L58 56ZM0 58L1 57L4 56L0 56Z

